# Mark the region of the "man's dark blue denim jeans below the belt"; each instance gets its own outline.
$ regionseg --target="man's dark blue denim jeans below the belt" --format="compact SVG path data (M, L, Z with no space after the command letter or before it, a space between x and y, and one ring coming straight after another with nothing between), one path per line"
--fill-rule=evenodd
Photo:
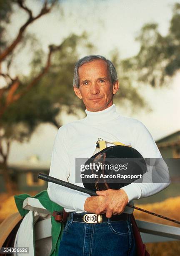
M67 220L59 256L135 256L130 220L103 223Z

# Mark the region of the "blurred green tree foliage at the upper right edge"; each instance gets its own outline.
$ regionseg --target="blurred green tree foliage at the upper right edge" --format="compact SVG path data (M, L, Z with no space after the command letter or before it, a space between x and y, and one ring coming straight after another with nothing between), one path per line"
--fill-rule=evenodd
M166 84L180 69L180 4L173 8L168 34L162 36L158 24L145 24L136 38L140 51L132 58L123 61L126 71L137 73L139 82L148 82L152 87Z

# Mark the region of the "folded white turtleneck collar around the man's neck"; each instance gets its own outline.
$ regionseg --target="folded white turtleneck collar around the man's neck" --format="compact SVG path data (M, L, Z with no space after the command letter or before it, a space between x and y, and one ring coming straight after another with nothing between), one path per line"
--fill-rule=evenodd
M86 121L90 123L106 123L110 120L117 118L120 114L116 112L115 104L112 104L109 108L106 108L102 111L88 111L85 110L87 117L85 118Z

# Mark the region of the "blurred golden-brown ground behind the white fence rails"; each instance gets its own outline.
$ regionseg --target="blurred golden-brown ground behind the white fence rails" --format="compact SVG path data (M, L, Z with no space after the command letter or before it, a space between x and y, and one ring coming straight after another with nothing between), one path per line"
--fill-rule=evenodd
M14 195L23 194L23 192L15 192ZM31 196L37 194L36 191L29 193ZM9 215L17 212L17 208L14 201L14 195L7 195L6 193L0 194L0 223ZM146 210L156 212L161 215L165 215L169 218L173 218L180 221L180 197L171 197L163 202L156 202L153 204L136 205ZM153 215L134 211L135 218L138 220L145 220L155 223L161 223L165 225L172 225L180 227L180 225L171 223L168 220L163 220ZM150 256L178 256L180 255L180 241L163 242L163 243L147 243L147 251Z

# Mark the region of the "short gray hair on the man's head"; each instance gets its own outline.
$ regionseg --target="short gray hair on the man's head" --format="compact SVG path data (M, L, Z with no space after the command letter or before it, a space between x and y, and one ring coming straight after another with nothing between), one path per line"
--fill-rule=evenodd
M82 59L79 59L75 64L74 78L73 78L73 86L74 87L77 87L77 88L80 87L79 73L78 73L79 67L81 67L83 64L85 64L87 62L90 62L93 60L98 60L98 59L102 59L103 61L105 61L107 63L107 72L110 77L111 83L114 84L118 80L115 66L110 60L106 59L105 57L103 57L101 55L88 55L88 56L83 57Z

